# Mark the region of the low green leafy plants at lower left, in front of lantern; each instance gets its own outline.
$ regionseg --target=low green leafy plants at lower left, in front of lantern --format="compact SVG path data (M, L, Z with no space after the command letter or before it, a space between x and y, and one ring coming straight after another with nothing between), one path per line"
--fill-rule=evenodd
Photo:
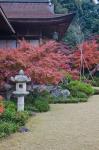
M0 112L0 138L18 131L29 118L27 111L16 111L16 105L13 101L3 101L2 103L4 111Z

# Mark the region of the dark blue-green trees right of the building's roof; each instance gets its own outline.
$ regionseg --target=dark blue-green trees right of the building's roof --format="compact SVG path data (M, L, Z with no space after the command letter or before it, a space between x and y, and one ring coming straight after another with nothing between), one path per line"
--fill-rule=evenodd
M64 41L75 46L99 33L99 4L91 0L53 0L56 13L76 12Z

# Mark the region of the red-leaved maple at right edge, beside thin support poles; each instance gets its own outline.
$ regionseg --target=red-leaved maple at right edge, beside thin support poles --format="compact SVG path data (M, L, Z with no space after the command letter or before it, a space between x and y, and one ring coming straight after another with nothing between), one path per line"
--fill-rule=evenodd
M81 48L84 69L92 69L99 63L99 43L96 40L85 41L79 45L75 52L69 56L73 68L80 69L81 64Z

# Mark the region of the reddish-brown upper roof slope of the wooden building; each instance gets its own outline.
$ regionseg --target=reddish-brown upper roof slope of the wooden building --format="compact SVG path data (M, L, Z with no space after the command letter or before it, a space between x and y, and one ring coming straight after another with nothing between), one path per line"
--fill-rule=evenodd
M16 18L49 18L53 17L47 3L0 3L9 19Z

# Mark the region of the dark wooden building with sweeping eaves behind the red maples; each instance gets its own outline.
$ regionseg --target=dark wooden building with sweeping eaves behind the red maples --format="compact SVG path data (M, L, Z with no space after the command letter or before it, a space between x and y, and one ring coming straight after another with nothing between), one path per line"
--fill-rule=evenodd
M17 47L19 39L39 44L60 40L75 14L55 14L50 0L0 0L0 47Z

